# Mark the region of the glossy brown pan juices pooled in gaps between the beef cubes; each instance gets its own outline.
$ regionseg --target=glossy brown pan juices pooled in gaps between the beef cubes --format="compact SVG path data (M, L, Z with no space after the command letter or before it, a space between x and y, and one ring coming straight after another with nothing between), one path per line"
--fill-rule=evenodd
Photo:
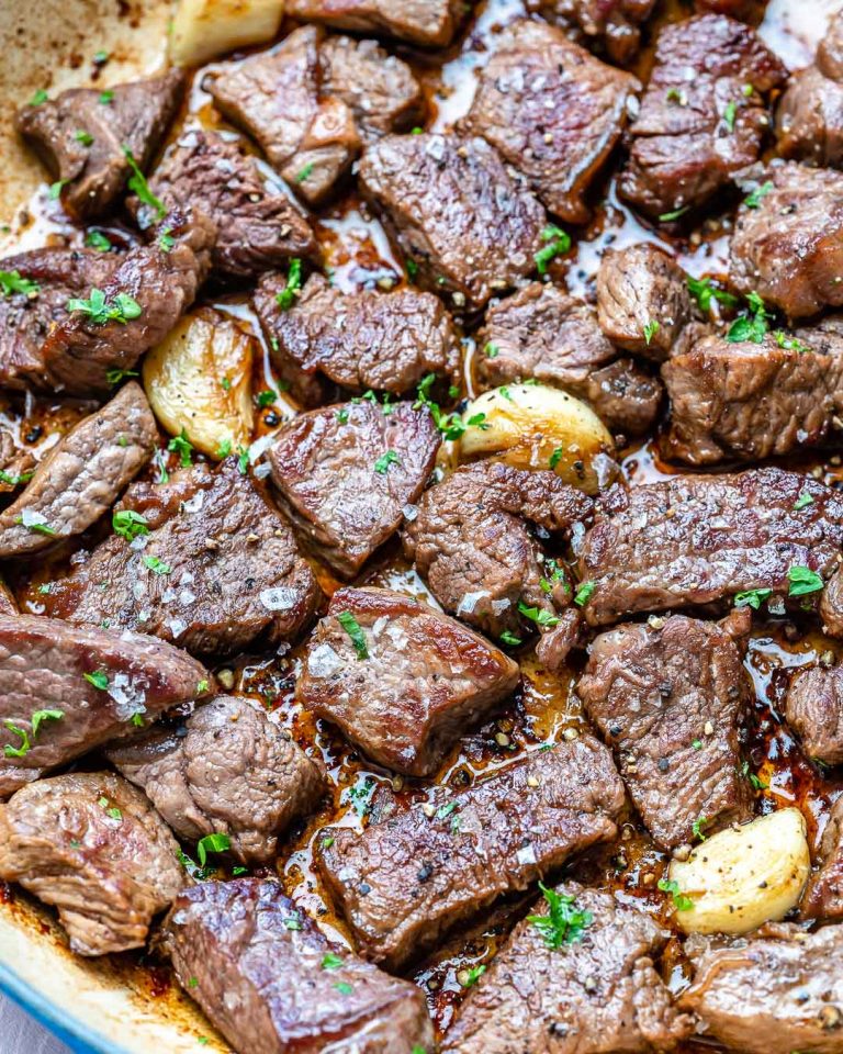
M791 68L806 65L812 57L828 14L839 8L840 0L772 0L761 33ZM513 18L524 15L522 0L488 0L477 7L475 16L460 43L445 56L445 61L422 55L408 48L396 51L409 61L423 81L429 109L427 126L443 131L463 116L476 86L476 71L482 67L490 45L501 27ZM670 0L655 20L672 21L687 16L690 8L679 0ZM648 31L652 40L654 26ZM636 61L634 71L645 77L651 51L645 48ZM213 66L207 68L214 68ZM228 128L202 88L202 71L193 79L186 125L199 124L236 134ZM178 135L173 133L173 137ZM248 149L252 149L237 136ZM254 149L252 149L254 152ZM262 165L262 162L261 162ZM617 166L615 166L617 168ZM262 165L273 186L288 192L284 184ZM690 273L723 274L727 271L729 216L712 215L699 229L655 229L632 213L617 197L612 167L607 170L594 195L592 222L578 232L572 232L574 248L569 257L554 265L557 281L566 281L569 288L586 299L594 296L594 276L600 256L609 246L619 247L640 240L654 242L675 253ZM723 203L726 206L730 202ZM358 194L350 192L336 204L324 210L316 220L316 231L324 254L325 269L345 291L361 288L392 288L404 280L401 259L393 251L380 222L372 216ZM131 243L132 235L120 225L104 228L112 240ZM61 215L56 202L50 202L43 189L33 199L16 231L16 248L34 248L44 244L80 245L81 233ZM261 354L257 357L254 390L277 388L269 348L260 330L248 298L238 292L221 292L210 298L220 312L234 317L258 340ZM465 369L463 396L474 394L472 361L474 344L471 336L473 319L458 318L465 329ZM58 437L79 419L86 411L82 403L65 403L53 399L21 400L12 397L0 403L0 421L12 427L15 441L37 456L48 449ZM256 440L269 441L283 421L297 413L299 407L283 392L270 408L256 417ZM622 471L630 485L640 485L665 479L681 471L663 461L657 437L628 448L622 452ZM452 460L447 451L443 463ZM165 457L175 468L175 459ZM843 470L833 452L822 458L800 457L788 464L800 471L813 472L825 482L840 484ZM730 467L723 466L723 470ZM99 532L101 534L101 531ZM55 559L35 565L22 565L12 575L19 599L24 609L38 612L37 585L67 569L67 559L75 549L95 542L98 531L65 546ZM319 582L329 596L341 583L318 561L314 561ZM428 603L436 602L424 582L401 556L400 546L387 545L361 576L362 582L387 586L409 593ZM418 781L396 777L373 766L326 722L305 714L295 699L296 674L302 662L303 647L279 649L277 654L245 654L216 670L232 672L234 691L249 695L267 707L271 719L288 729L302 748L319 759L328 773L330 794L321 811L289 833L274 868L289 895L299 907L319 920L325 931L339 941L350 943L348 931L325 895L313 866L313 846L326 825L339 825L362 830L368 822L393 808L427 799L436 786L460 790L477 777L508 764L542 743L554 742L562 736L574 736L588 730L574 687L585 661L582 654L572 657L570 669L553 675L543 670L530 649L519 657L522 684L509 704L495 720L470 730L443 762L435 780ZM756 618L750 641L745 669L755 688L755 702L748 716L744 754L766 787L756 795L756 809L766 812L786 805L801 809L809 825L811 844L817 845L822 834L830 805L841 793L843 784L835 772L822 772L801 752L799 744L782 720L782 700L787 674L794 668L820 661L836 662L841 646L825 638L816 625L796 625L789 619ZM633 815L627 817L619 840L609 846L593 851L575 863L570 872L577 878L615 889L619 895L634 899L652 911L666 926L671 924L670 906L657 892L659 878L666 861L663 853L642 830ZM258 872L260 873L260 872ZM532 894L516 897L488 909L474 929L453 937L437 954L418 964L413 976L425 990L431 1013L440 1033L453 1018L464 989L458 975L467 966L488 963L512 929L524 915ZM136 957L121 956L127 983L160 998L175 998L166 968L138 965ZM687 984L687 971L681 944L671 940L663 956L663 973L674 990ZM710 1045L708 1045L710 1049ZM699 1050L692 1043L687 1051Z

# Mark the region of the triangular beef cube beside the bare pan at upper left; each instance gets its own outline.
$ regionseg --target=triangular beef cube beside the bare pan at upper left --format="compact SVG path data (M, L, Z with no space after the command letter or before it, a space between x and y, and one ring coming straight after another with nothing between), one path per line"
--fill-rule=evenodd
M71 88L23 106L18 130L60 181L61 204L76 220L109 213L132 175L128 150L146 169L181 103L184 75L99 88Z

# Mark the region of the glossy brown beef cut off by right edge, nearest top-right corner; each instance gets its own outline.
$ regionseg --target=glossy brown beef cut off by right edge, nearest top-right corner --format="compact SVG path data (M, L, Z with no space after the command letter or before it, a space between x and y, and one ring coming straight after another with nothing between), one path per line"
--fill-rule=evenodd
M831 14L811 66L797 70L776 109L778 153L820 167L843 164L843 13Z

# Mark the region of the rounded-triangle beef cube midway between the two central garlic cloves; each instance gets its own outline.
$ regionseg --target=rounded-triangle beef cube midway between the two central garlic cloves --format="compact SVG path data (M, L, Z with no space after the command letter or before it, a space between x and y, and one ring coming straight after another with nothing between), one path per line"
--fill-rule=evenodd
M412 403L326 406L281 429L269 450L272 481L293 523L350 579L398 529L439 442L430 414Z

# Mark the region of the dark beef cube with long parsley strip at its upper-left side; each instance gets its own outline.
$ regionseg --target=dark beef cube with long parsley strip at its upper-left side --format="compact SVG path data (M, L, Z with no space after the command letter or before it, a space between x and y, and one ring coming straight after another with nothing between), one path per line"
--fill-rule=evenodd
M216 224L211 261L223 274L249 278L316 253L311 225L286 194L271 187L254 157L216 132L184 132L149 186L168 208L199 209ZM142 226L154 221L148 205L131 204Z

